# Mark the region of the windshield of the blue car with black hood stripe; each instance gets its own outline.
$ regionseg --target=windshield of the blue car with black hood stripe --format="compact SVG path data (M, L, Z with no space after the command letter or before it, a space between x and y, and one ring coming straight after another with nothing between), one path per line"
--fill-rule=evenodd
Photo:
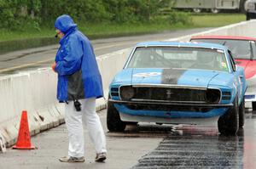
M228 71L223 50L208 48L137 48L127 68L177 68Z

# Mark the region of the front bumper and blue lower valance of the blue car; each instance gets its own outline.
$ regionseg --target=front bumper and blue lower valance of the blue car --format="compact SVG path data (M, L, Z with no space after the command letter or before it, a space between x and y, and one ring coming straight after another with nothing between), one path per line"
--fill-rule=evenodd
M120 114L160 118L211 118L224 115L233 104L183 104L108 99Z

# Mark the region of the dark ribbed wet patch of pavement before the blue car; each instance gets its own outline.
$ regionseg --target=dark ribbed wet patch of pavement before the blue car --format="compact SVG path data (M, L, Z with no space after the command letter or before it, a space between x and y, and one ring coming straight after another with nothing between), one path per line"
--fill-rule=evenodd
M243 168L243 139L207 130L173 132L133 168Z

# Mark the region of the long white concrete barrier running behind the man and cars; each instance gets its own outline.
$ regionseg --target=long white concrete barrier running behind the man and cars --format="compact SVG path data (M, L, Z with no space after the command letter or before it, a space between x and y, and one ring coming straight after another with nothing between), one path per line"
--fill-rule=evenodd
M255 27L256 20L250 20L167 41L189 41L190 37L198 35L256 37ZM108 85L122 69L130 52L131 48L126 48L97 57L105 98L96 100L96 110L106 108ZM57 103L55 99L56 78L50 68L0 77L0 136L7 146L15 144L22 110L27 110L31 135L64 122L64 105Z

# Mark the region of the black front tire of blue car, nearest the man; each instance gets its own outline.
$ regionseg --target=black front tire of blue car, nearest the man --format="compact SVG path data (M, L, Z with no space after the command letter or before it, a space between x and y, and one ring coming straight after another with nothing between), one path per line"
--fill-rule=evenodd
M107 107L107 127L109 132L124 132L126 127L126 123L120 119L119 111L110 102Z

